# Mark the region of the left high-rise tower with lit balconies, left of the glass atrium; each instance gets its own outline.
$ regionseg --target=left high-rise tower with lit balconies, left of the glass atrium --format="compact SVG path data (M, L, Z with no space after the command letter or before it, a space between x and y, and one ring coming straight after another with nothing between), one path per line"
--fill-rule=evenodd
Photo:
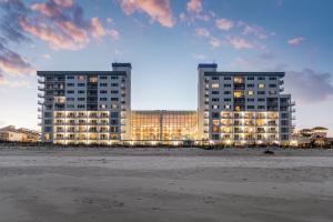
M112 63L112 71L38 71L42 141L129 140L131 69L130 63Z

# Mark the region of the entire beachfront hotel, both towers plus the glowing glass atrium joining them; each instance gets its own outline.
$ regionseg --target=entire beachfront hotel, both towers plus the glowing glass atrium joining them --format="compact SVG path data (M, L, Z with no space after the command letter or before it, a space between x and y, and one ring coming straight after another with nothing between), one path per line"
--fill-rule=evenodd
M294 109L283 72L198 67L198 110L131 110L131 64L38 71L42 141L53 143L289 143Z

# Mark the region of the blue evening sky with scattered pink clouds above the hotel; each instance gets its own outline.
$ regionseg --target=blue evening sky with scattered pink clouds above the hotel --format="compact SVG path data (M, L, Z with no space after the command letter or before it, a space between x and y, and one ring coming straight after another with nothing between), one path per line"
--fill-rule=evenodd
M0 127L38 129L37 70L132 63L132 109L195 110L198 63L284 71L333 137L332 0L0 0Z

